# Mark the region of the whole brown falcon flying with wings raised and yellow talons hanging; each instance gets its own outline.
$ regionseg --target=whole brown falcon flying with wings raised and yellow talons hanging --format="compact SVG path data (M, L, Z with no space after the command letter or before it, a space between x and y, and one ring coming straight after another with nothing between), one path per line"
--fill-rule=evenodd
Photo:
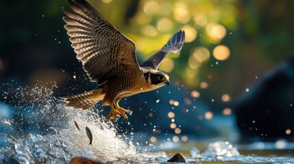
M86 110L97 102L109 105L107 120L117 115L127 119L126 110L119 107L121 98L169 85L169 76L158 70L164 57L180 53L185 33L175 33L162 49L138 65L136 46L119 30L104 19L85 0L69 0L72 10L62 8L66 16L64 28L70 36L71 46L82 61L90 81L96 82L95 90L62 97L66 107Z

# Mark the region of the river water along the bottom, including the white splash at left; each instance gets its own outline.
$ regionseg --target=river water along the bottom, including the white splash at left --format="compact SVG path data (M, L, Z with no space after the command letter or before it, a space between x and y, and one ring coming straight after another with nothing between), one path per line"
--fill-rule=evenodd
M3 91L2 91L3 92ZM121 134L98 113L63 107L52 88L4 91L0 105L0 163L69 163L74 156L109 163L166 163L177 152L188 163L294 163L294 143L230 143L224 139L150 141L148 134ZM9 116L14 105L13 116ZM77 122L79 129L74 122ZM92 144L86 134L93 135Z

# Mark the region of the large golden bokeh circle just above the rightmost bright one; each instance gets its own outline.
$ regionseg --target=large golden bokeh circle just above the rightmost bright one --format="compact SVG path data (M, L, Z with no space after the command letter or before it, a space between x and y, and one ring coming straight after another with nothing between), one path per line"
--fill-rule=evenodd
M208 25L206 25L205 31L213 41L219 41L223 39L227 33L225 27L217 23L208 23Z

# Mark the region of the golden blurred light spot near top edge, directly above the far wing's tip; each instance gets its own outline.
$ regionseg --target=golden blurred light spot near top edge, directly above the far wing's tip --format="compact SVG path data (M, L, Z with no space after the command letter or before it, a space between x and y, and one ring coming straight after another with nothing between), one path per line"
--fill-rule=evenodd
M186 24L190 20L190 14L188 13L188 8L186 3L178 2L175 4L174 17L180 23Z

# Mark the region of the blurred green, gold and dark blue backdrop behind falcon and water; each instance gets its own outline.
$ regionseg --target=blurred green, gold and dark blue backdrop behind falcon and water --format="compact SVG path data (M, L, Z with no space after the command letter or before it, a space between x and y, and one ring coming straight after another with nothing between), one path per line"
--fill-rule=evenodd
M121 101L132 110L131 126L119 122L122 131L169 133L173 141L293 140L294 1L88 2L135 42L139 62L173 33L186 32L180 55L170 55L159 68L172 85ZM56 97L96 87L75 58L62 7L69 8L67 1L2 2L1 118L15 117L14 104L3 94L12 86L56 85Z

